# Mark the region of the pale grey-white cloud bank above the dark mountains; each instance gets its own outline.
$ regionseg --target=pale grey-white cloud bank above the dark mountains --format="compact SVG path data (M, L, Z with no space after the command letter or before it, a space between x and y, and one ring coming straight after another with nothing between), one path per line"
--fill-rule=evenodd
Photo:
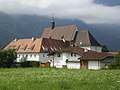
M120 6L95 4L93 0L0 0L0 11L79 19L89 24L120 24Z

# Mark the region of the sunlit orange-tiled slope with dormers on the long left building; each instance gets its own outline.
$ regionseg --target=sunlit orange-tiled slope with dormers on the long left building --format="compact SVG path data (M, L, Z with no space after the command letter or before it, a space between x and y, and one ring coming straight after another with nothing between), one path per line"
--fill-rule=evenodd
M5 49L16 49L17 53L38 53L41 50L42 38L17 39L8 44ZM13 47L14 46L14 47Z

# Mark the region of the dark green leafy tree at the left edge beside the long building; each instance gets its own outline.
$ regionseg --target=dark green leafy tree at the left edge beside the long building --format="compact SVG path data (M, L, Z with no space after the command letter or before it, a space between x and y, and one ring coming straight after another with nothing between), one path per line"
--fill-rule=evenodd
M10 68L17 58L17 53L14 49L0 50L0 67Z

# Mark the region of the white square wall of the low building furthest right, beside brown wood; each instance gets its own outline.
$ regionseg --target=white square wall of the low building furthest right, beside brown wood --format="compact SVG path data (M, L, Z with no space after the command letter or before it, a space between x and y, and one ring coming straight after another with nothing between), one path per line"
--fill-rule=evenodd
M101 69L100 61L88 61L88 69L98 70Z

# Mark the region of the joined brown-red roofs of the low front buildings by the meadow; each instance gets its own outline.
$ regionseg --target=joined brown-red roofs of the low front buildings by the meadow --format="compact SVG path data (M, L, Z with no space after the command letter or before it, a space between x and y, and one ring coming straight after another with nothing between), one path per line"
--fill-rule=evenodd
M106 57L108 57L108 54L103 54L102 52L95 52L91 50L87 50L85 52L85 49L76 46L75 47L70 46L62 50L55 51L50 53L49 55L52 55L57 52L74 52L81 56L80 57L81 60L103 60Z

